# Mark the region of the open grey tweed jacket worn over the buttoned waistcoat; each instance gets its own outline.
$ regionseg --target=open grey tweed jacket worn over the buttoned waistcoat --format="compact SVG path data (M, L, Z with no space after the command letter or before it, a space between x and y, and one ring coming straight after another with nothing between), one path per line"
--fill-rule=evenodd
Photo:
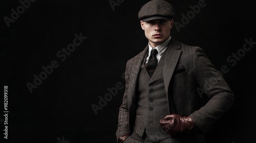
M165 51L163 67L168 113L190 116L205 134L233 103L233 93L219 71L198 46L189 46L172 38ZM125 91L119 108L116 137L132 134L136 116L138 76L148 46L126 63ZM199 105L202 94L208 100ZM163 118L163 117L162 117Z

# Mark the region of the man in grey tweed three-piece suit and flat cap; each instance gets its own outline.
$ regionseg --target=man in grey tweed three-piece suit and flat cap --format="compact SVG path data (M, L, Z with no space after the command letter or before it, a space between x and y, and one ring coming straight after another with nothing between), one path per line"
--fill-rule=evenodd
M205 142L233 93L203 50L170 37L174 9L163 0L138 13L148 45L127 61L117 142ZM200 91L209 97L199 105Z

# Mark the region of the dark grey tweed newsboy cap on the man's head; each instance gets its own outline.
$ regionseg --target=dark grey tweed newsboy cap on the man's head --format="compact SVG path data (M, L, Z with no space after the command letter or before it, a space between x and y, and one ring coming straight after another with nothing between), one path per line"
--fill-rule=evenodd
M152 0L142 6L138 13L138 17L143 21L154 19L172 20L174 17L174 8L166 1Z

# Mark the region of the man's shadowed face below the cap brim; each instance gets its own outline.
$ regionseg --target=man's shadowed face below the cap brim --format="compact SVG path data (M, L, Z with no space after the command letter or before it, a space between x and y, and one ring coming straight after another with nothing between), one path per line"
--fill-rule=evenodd
M145 31L145 36L152 47L163 43L170 36L174 20L155 19L150 21L140 20L141 28Z

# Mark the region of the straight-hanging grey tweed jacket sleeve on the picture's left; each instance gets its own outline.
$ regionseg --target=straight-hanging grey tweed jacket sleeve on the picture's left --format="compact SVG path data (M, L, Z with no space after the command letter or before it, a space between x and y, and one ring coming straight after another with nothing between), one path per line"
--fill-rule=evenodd
M129 81L130 81L130 60L126 63L125 69L125 90L122 99L122 104L119 108L118 114L118 126L116 131L116 138L118 139L119 136L124 134L131 134L130 127L129 127L129 107L127 101L127 89L129 88Z

